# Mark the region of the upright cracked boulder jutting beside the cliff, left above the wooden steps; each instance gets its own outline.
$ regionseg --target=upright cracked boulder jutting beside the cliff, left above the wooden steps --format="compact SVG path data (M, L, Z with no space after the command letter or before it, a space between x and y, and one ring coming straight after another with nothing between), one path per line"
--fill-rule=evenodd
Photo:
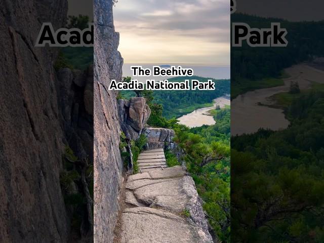
M143 97L133 97L130 100L118 100L120 126L126 137L137 140L150 114L151 109Z

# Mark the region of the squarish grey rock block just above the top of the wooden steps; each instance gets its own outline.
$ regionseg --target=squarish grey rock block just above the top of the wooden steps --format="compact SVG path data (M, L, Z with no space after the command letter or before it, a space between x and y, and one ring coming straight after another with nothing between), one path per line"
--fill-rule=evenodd
M175 147L173 142L175 133L171 129L145 128L143 133L147 138L145 149L165 148L173 150Z

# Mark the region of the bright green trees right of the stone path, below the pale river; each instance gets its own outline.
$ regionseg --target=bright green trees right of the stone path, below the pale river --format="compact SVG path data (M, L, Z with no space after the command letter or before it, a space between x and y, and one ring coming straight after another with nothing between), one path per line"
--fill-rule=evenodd
M213 126L175 129L175 141L185 151L188 172L204 200L213 233L230 242L230 108L213 110Z

